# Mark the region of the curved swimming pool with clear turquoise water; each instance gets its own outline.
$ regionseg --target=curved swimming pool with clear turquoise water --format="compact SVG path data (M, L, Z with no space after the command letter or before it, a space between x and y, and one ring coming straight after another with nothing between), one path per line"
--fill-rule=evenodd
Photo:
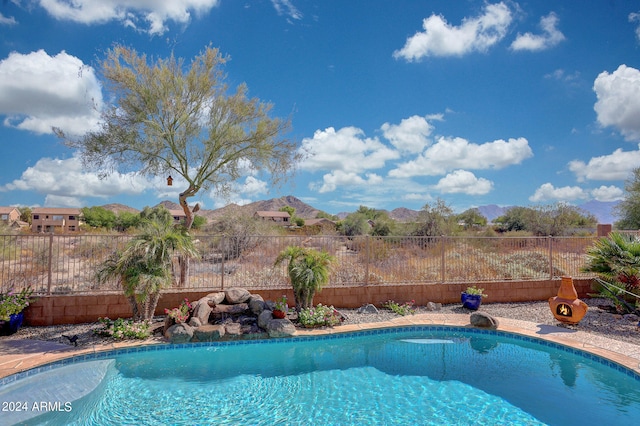
M633 371L554 343L460 327L159 345L35 372L48 376L0 382L3 404L26 395L54 402L39 413L29 401L22 415L39 414L29 424L624 425L640 418Z

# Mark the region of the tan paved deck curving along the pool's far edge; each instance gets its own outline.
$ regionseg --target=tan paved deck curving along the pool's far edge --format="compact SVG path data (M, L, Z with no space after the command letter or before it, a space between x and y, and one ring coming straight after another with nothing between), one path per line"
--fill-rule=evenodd
M572 330L528 321L498 318L499 331L522 334L548 340L561 345L580 349L617 364L623 365L640 374L640 346L590 334L584 331ZM333 328L298 330L298 336L318 336L323 334L363 331L376 328L400 327L410 325L445 325L471 327L469 315L464 314L420 314L394 318L385 322L367 324L350 324ZM155 338L145 341L123 341L109 344L74 347L66 344L30 339L0 339L0 378L10 376L69 358L75 355L85 355L113 349L132 346L167 344L164 339Z

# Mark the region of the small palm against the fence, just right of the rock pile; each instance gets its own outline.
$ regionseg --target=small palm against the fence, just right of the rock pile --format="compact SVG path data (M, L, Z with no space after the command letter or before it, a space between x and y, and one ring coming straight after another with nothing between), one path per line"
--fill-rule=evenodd
M329 281L329 268L333 260L333 256L324 250L306 247L288 246L280 252L275 265L284 261L289 263L287 272L298 311L313 306L316 292Z

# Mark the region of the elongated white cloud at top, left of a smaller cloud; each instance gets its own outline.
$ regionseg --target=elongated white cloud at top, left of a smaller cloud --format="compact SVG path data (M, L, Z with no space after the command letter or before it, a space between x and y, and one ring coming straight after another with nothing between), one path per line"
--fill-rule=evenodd
M511 21L511 11L503 2L487 4L482 15L465 18L457 27L448 24L442 16L431 15L422 22L424 31L407 38L404 47L393 56L414 61L428 56L484 52L504 38Z

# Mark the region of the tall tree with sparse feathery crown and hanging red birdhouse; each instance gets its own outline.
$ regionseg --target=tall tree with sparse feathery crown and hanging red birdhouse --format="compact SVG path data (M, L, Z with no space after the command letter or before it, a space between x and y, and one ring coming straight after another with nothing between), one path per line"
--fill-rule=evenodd
M227 60L212 47L186 64L116 45L100 64L105 98L113 100L101 111L100 129L79 139L54 131L102 177L116 171L182 177L179 204L188 230L199 206L191 209L187 200L199 191L224 195L254 172L276 183L297 161L295 142L284 137L290 121L270 117L272 105L249 98L245 84L229 93Z

